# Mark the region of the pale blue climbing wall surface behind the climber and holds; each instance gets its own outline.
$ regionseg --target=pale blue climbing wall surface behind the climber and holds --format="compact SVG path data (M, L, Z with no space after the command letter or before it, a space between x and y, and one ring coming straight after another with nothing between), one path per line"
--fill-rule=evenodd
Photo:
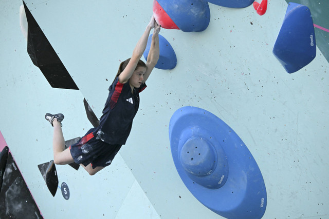
M115 163L95 176L69 166L57 167L60 184L65 182L70 188L68 201L60 191L51 196L37 167L52 158L52 130L44 113L65 114L67 139L91 127L83 98L100 117L107 88L147 26L153 2L26 1L79 91L51 88L33 66L26 39L17 31L19 5L2 9L16 7L17 21L2 24L16 29L1 33L7 52L1 53L0 68L8 75L1 82L1 103L6 108L1 109L0 130L45 217L56 213L94 218L132 214L220 218L196 200L174 166L169 121L182 106L210 111L246 144L266 185L264 218L325 218L329 214L329 65L317 49L313 62L288 74L273 56L287 8L284 0L269 1L263 16L252 6L234 9L209 4L211 17L204 31L162 29L160 34L176 53L176 67L155 69L151 74L148 88L140 95L131 135ZM14 37L21 38L14 41ZM139 208L134 207L136 203Z

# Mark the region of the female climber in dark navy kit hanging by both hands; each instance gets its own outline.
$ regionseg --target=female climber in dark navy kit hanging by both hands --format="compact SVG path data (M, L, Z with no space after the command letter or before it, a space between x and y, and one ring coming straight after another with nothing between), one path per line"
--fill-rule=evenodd
M140 60L154 28L150 52L146 64ZM139 107L139 92L146 87L159 59L160 26L152 16L133 51L132 57L119 66L114 82L109 86L109 94L99 121L99 126L90 129L81 140L65 149L62 132L64 115L47 113L45 118L53 126L53 157L55 164L77 163L94 175L111 164L121 146L130 134L133 119Z

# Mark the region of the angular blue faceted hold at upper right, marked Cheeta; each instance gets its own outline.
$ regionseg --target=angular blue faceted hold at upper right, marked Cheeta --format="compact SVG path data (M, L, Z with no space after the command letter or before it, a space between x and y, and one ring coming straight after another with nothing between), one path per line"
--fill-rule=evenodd
M312 62L316 56L316 42L309 8L288 4L273 54L288 73L294 73Z

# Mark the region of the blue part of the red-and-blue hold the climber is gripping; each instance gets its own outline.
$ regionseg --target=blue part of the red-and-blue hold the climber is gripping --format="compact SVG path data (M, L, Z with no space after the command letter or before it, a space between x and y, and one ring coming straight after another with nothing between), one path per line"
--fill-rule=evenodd
M184 32L207 29L210 9L205 0L157 0L169 17Z

